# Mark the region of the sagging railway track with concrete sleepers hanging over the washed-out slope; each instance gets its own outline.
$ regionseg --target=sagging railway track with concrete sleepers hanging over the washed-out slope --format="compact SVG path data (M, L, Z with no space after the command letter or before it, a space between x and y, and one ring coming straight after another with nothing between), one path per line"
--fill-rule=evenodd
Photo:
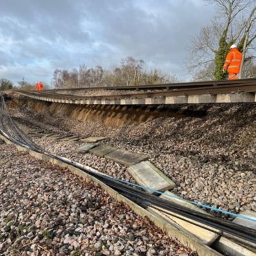
M163 86L163 85L161 85ZM169 88L165 90L166 88ZM153 88L153 87L152 87ZM154 87L155 89L156 87ZM256 81L221 81L220 83L192 83L189 85L165 85L158 91L134 92L123 94L74 96L52 91L15 92L36 100L75 103L86 105L162 105L175 103L237 103L256 101ZM158 88L159 89L159 88ZM96 89L95 89L96 90Z

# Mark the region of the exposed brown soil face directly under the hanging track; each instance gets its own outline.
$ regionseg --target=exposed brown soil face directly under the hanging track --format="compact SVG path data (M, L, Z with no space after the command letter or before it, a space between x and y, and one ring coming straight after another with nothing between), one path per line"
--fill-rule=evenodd
M12 100L8 107L14 109L27 104L36 112L48 111L51 116L65 116L72 120L103 122L104 125L121 126L127 124L140 124L160 117L182 118L184 114L178 112L179 108L147 107L132 105L77 105L65 103L51 103L37 100ZM197 113L203 114L203 113Z

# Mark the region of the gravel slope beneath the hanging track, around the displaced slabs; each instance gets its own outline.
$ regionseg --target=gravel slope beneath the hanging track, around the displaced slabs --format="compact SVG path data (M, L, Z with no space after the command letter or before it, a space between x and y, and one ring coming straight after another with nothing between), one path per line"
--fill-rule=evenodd
M78 122L52 118L23 108L13 115L45 131L80 136L105 136L101 144L149 155L149 160L169 176L173 192L228 211L256 211L256 106L250 103L176 105L169 107L183 118L156 118L140 125L112 127L101 122ZM38 120L42 122L38 123ZM21 125L25 128L25 125ZM27 128L28 129L28 128ZM76 155L80 143L59 144L36 138L43 147L59 155L96 167L109 175L131 180L123 165L103 158ZM56 145L56 147L54 146ZM103 166L108 164L105 169ZM117 171L115 171L115 169Z

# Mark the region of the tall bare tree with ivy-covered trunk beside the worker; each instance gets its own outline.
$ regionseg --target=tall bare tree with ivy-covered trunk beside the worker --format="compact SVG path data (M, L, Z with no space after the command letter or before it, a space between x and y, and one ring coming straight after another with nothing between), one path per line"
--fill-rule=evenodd
M202 27L200 34L191 39L190 58L186 65L196 79L198 74L202 75L204 70L209 73L209 69L213 68L214 73L209 74L208 80L213 78L220 80L224 79L225 76L222 67L229 47L233 43L237 43L239 49L246 53L253 45L255 39L255 1L206 1L217 6L217 16L212 20L210 26ZM246 58L244 60L247 61Z

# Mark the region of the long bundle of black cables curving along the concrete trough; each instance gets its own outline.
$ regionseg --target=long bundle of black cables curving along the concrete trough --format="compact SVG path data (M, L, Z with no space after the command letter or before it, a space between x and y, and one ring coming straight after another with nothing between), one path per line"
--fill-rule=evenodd
M8 138L8 140L14 142L15 144L30 149L32 151L36 151L37 153L40 153L42 155L46 155L51 158L60 160L65 164L72 165L73 167L76 167L81 171L84 171L85 173L94 176L101 182L107 184L107 186L110 186L116 191L118 191L118 193L124 195L130 200L133 200L134 202L140 204L141 206L144 206L144 208L147 208L149 206L152 208L160 208L161 211L163 212L172 211L173 213L180 215L181 218L186 217L191 220L197 220L198 222L209 226L209 229L211 230L215 228L218 229L218 232L223 231L237 238L242 238L247 241L247 246L255 248L255 246L251 244L255 244L256 242L255 231L253 231L253 229L244 228L242 226L233 224L232 222L228 222L226 220L211 217L206 214L191 211L191 209L180 207L177 204L172 204L169 201L163 200L159 197L149 195L141 191L140 189L136 189L136 187L127 186L126 184L123 184L123 182L120 180L113 179L112 177L109 176L100 175L99 173L93 173L92 171L84 167L81 167L81 165L76 164L75 162L62 158L61 156L53 155L52 153L49 153L48 151L45 151L41 149L41 147L38 147L34 143L30 142L30 140L28 140L28 138L19 130L16 124L12 121L12 118L10 118L10 115L8 114L8 111L6 109L5 101L3 99L1 101L1 113L1 134L5 136L5 138ZM237 240L237 238L233 238L233 240Z

